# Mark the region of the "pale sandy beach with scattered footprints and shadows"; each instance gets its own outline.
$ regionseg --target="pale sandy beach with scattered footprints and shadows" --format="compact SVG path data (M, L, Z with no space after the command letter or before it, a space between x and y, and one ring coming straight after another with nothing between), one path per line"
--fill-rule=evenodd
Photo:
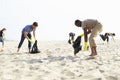
M67 41L38 42L38 54L29 54L25 42L17 53L18 42L6 41L0 80L120 80L120 40L96 43L98 56L88 60L90 50L75 57Z

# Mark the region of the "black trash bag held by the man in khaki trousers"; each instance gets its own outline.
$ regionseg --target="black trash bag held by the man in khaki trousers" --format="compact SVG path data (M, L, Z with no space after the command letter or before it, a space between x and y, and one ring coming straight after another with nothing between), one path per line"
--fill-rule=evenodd
M81 49L81 36L78 36L75 42L73 43L74 55L76 55Z

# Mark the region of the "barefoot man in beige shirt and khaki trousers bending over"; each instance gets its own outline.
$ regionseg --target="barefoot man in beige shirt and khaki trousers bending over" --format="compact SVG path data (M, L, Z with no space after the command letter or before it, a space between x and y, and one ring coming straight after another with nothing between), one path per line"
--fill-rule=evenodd
M89 37L89 44L91 48L91 55L97 55L96 43L94 38L102 31L102 24L94 19L86 19L84 21L75 20L75 25L77 27L82 27L84 31L84 51L87 50L88 34L91 33Z

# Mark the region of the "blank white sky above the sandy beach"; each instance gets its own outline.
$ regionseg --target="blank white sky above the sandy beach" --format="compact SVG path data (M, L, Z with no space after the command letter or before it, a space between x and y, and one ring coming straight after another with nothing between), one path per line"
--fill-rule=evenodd
M70 32L83 33L76 19L97 19L101 34L116 33L119 39L119 8L119 0L0 0L0 29L7 29L6 39L20 40L22 29L36 21L39 41L68 40Z

